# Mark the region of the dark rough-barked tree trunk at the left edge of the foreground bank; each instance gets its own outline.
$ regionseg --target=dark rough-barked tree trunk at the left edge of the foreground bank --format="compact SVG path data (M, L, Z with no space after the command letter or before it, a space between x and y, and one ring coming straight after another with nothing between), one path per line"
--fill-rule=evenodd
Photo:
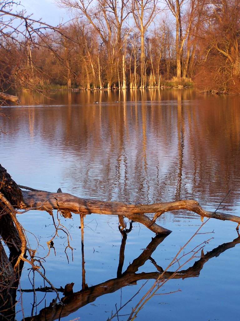
M18 271L13 268L21 254L22 242L13 223L12 213L2 200L7 199L14 207L19 208L22 206L22 193L1 164L0 197L0 235L10 252L8 258L0 242L0 314L7 320L15 320L16 291L23 262L18 266Z

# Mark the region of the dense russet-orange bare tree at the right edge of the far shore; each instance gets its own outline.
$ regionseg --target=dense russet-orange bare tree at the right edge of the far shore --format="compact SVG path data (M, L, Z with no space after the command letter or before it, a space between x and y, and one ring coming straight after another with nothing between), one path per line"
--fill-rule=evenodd
M210 1L204 10L196 83L206 90L239 93L239 0Z

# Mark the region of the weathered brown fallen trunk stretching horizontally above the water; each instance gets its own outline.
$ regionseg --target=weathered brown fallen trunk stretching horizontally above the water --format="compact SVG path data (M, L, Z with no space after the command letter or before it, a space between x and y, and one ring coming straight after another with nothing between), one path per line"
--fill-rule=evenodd
M19 186L21 187L21 186ZM175 202L154 204L126 204L121 202L98 201L94 199L80 198L68 193L51 193L44 191L22 191L23 208L37 208L40 210L58 209L80 214L111 214L125 216L132 221L144 224L156 234L169 234L170 230L156 224L156 219L165 212L176 210L188 210L204 217L215 218L223 221L234 221L240 224L240 217L236 215L210 212L204 210L195 200L180 200ZM155 213L150 219L145 213ZM125 226L123 226L124 228ZM238 226L237 226L238 228Z

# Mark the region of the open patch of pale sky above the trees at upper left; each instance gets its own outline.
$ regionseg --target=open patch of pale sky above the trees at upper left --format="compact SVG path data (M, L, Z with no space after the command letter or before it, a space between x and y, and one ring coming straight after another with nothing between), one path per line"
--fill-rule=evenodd
M59 8L54 0L20 0L20 2L25 7L27 14L33 14L32 19L42 18L42 22L52 26L69 20L68 11Z

